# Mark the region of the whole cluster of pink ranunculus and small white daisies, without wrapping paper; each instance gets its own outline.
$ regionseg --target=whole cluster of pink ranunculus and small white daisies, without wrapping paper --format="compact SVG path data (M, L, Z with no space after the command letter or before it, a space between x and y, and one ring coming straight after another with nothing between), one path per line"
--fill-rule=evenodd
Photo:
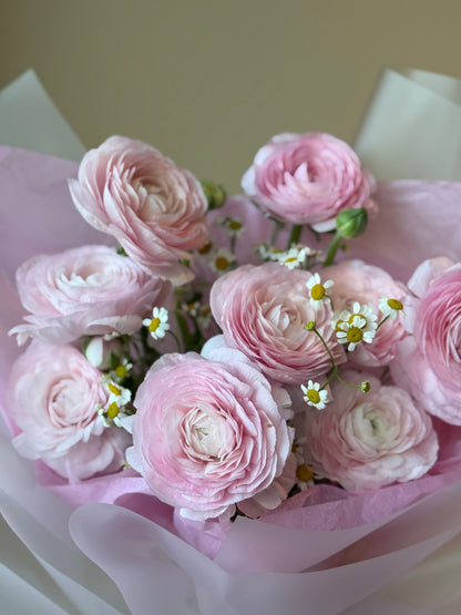
M372 177L331 135L273 137L242 186L227 197L120 136L84 156L72 199L119 248L18 269L21 454L70 483L130 467L184 517L222 522L319 482L431 471L431 416L461 424L460 265L424 262L406 285L345 257L379 214Z

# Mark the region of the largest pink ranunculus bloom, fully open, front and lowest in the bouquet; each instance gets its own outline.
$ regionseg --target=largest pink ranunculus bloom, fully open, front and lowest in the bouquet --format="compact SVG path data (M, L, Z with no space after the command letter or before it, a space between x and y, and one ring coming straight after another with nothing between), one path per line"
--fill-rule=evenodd
M126 459L184 516L228 517L281 474L290 452L288 393L219 338L203 356L164 355L134 406Z

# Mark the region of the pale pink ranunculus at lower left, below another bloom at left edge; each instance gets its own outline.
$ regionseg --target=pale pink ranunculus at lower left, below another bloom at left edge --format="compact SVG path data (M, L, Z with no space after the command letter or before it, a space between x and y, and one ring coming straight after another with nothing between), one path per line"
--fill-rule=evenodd
M120 470L130 438L105 428L98 414L109 397L101 376L72 346L32 341L8 383L9 416L21 430L12 440L19 453L41 459L71 482Z

